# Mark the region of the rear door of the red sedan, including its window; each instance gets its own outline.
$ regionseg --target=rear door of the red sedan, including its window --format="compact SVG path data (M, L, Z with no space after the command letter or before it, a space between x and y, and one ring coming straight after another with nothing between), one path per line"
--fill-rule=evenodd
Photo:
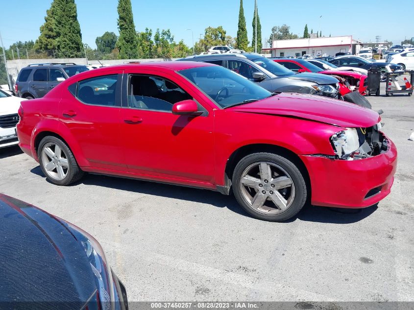
M120 139L122 74L79 81L60 102L60 119L92 167L126 170Z

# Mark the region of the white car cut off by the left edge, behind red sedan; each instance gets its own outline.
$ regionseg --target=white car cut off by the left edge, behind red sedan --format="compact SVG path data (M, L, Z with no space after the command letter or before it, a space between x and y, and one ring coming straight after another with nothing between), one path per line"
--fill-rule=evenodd
M19 122L17 111L23 100L26 99L0 90L0 148L19 143L16 133L16 124Z

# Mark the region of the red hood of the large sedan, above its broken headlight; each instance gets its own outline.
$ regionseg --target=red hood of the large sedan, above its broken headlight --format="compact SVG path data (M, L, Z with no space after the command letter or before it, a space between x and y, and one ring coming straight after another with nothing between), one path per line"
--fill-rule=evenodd
M370 127L381 120L377 112L353 103L317 95L291 93L282 93L229 110L296 117L341 127Z

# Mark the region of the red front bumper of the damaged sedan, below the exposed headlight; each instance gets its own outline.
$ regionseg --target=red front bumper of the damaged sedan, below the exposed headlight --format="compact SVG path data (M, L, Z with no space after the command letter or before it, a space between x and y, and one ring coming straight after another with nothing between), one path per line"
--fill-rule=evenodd
M390 140L387 152L353 161L300 155L311 179L313 205L365 208L391 191L397 149Z

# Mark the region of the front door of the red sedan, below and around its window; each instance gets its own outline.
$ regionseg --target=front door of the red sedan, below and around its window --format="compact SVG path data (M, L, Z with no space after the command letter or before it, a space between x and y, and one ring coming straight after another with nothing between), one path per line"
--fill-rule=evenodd
M143 83L141 86L145 84L146 87L125 83L128 85L123 88L125 92L129 90L128 96L133 100L129 101L131 107L122 108L120 117L120 136L129 171L181 180L212 182L213 113L208 113L206 107L200 105L205 111L204 116L173 115L170 111L173 101L166 96L163 85L168 85L167 92L184 92L190 98L194 97L194 90L191 92L186 87L178 87L177 85L181 84L165 73L154 72L151 77L154 76L168 77L167 82L157 83L158 91L153 86L146 85L148 82L144 82L144 79L136 78L136 75L130 75L128 80L140 81L139 83ZM176 97L174 101L181 99ZM157 100L164 103L156 104ZM170 106L167 108L168 104Z

